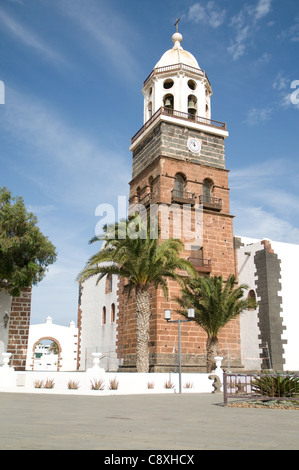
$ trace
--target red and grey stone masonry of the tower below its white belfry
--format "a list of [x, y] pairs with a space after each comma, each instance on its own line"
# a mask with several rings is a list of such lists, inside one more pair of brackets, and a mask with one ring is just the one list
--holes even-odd
[[[202, 141], [199, 156], [187, 149], [188, 137]], [[203, 132], [189, 131], [176, 125], [157, 126], [151, 135], [133, 151], [133, 179], [130, 182], [130, 204], [172, 204], [172, 190], [177, 173], [185, 178], [184, 190], [194, 194], [195, 204], [200, 203], [203, 181], [212, 182], [211, 196], [221, 199], [221, 209], [203, 209], [203, 258], [210, 260], [209, 273], [230, 274], [237, 277], [238, 269], [234, 249], [233, 216], [229, 208], [228, 170], [225, 169], [224, 139]], [[194, 225], [194, 212], [192, 224]], [[172, 236], [173, 216], [169, 213], [169, 236]], [[180, 237], [182, 239], [182, 237]], [[183, 242], [186, 240], [182, 239]], [[183, 257], [194, 255], [185, 251]], [[164, 320], [164, 309], [171, 309], [172, 319], [178, 318], [176, 297], [180, 287], [173, 281], [169, 285], [169, 299], [159, 289], [152, 291], [150, 320], [150, 370], [170, 371], [177, 365], [178, 325]], [[117, 328], [117, 352], [122, 359], [123, 370], [134, 370], [136, 361], [136, 329], [134, 295], [128, 299], [119, 283], [119, 315]], [[189, 371], [205, 371], [207, 335], [195, 322], [184, 323], [181, 329], [182, 367]], [[235, 358], [240, 358], [239, 319], [231, 321], [219, 334], [220, 348], [226, 356], [227, 348]], [[225, 361], [224, 361], [225, 362]], [[231, 361], [230, 366], [239, 368], [240, 361]]]

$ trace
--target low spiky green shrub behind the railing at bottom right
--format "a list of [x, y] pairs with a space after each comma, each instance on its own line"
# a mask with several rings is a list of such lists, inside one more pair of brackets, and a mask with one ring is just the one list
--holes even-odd
[[266, 373], [251, 382], [252, 390], [265, 397], [299, 396], [299, 377]]

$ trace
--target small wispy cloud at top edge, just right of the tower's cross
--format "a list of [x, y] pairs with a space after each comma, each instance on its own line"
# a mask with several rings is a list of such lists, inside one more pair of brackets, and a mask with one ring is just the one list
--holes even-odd
[[197, 2], [189, 8], [188, 20], [195, 23], [207, 23], [212, 28], [218, 28], [225, 20], [226, 10], [219, 8], [214, 1], [209, 1], [206, 5]]

